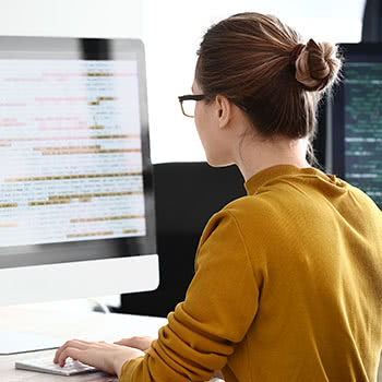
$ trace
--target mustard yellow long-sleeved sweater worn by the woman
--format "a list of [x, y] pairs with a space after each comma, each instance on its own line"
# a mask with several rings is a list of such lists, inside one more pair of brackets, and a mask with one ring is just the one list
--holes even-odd
[[[204, 229], [186, 300], [122, 382], [375, 381], [382, 213], [334, 176], [267, 168]], [[179, 249], [181, 255], [181, 249]]]

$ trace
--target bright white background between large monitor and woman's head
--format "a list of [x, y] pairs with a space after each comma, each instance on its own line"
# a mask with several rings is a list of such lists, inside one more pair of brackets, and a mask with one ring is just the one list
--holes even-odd
[[193, 121], [180, 112], [178, 95], [189, 94], [195, 51], [207, 27], [231, 14], [271, 13], [309, 39], [358, 43], [365, 0], [145, 0], [152, 159], [204, 160]]

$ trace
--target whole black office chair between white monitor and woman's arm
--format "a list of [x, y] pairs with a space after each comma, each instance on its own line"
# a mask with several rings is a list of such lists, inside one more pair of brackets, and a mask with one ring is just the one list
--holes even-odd
[[210, 217], [246, 194], [236, 166], [206, 163], [154, 165], [159, 287], [121, 296], [121, 313], [167, 317], [184, 299], [194, 274], [194, 256]]

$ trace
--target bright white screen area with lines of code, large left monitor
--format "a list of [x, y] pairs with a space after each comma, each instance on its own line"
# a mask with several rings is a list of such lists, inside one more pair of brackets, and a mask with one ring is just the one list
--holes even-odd
[[0, 247], [144, 236], [134, 60], [0, 60]]

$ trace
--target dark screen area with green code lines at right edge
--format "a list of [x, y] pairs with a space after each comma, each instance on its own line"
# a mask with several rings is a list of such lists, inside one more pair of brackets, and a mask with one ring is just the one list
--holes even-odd
[[347, 63], [345, 178], [382, 207], [382, 63]]

